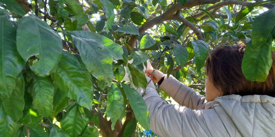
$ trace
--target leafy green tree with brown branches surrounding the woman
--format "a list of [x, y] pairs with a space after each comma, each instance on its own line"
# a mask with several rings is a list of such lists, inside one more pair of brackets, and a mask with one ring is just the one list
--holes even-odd
[[205, 59], [217, 46], [247, 44], [242, 71], [250, 81], [265, 81], [272, 64], [274, 0], [0, 0], [0, 7], [5, 137], [142, 135], [150, 120], [135, 87], [148, 84], [148, 59], [202, 95]]

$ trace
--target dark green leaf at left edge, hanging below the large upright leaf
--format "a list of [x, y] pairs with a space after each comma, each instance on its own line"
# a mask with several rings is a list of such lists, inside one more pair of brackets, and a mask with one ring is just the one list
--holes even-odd
[[7, 115], [9, 115], [13, 121], [17, 122], [23, 116], [24, 109], [24, 77], [20, 73], [16, 78], [16, 86], [11, 94], [11, 97], [1, 96], [3, 102], [4, 110]]

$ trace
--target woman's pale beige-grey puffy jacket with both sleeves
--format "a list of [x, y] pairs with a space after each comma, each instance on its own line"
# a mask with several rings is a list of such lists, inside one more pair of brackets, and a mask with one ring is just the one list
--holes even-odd
[[160, 137], [275, 137], [274, 97], [227, 95], [206, 103], [205, 97], [173, 76], [160, 89], [180, 104], [167, 104], [154, 84], [148, 85], [143, 98], [150, 128]]

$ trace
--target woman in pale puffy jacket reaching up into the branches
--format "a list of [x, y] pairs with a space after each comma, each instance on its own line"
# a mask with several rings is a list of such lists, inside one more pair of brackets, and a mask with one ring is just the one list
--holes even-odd
[[[260, 83], [242, 74], [244, 50], [240, 45], [227, 45], [212, 51], [206, 61], [206, 97], [172, 75], [167, 78], [155, 71], [153, 82], [179, 105], [161, 100], [149, 83], [143, 98], [151, 130], [160, 137], [275, 137], [275, 53], [269, 75]], [[152, 72], [147, 70], [147, 75]]]

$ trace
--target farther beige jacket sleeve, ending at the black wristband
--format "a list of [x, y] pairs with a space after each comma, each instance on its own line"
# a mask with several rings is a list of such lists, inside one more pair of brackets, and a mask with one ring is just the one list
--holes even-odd
[[202, 105], [206, 102], [205, 97], [200, 93], [187, 87], [172, 75], [163, 80], [160, 85], [160, 89], [166, 92], [172, 97], [179, 105], [186, 106], [190, 109], [197, 110], [197, 106]]

